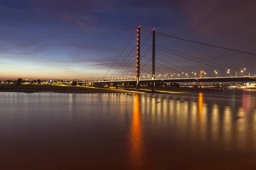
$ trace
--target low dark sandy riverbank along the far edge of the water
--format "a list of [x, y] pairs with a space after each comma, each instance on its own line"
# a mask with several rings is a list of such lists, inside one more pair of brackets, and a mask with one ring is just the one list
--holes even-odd
[[[210, 88], [164, 88], [156, 87], [155, 93], [211, 93], [222, 92], [223, 89]], [[118, 89], [111, 88], [94, 88], [85, 86], [66, 86], [66, 85], [5, 85], [0, 84], [0, 92], [23, 92], [23, 93], [38, 93], [38, 92], [55, 92], [55, 93], [77, 93], [77, 94], [102, 94], [102, 93], [152, 93], [151, 87], [140, 87], [140, 91], [136, 91], [134, 86], [125, 90], [122, 86]]]

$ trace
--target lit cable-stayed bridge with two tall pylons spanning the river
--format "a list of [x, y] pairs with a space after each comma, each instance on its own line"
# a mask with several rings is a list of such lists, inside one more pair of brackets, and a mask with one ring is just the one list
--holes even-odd
[[[150, 36], [145, 40], [145, 42], [141, 42], [141, 31], [150, 33]], [[222, 65], [216, 62], [211, 62], [206, 59], [194, 57], [189, 54], [185, 54], [179, 51], [172, 50], [170, 48], [163, 47], [161, 45], [157, 45], [155, 44], [156, 34], [159, 36], [169, 37], [169, 38], [177, 39], [181, 41], [186, 41], [186, 42], [196, 43], [204, 46], [220, 48], [227, 51], [234, 51], [237, 53], [256, 56], [256, 54], [254, 53], [239, 51], [231, 48], [225, 48], [225, 47], [211, 45], [203, 42], [197, 42], [193, 40], [187, 40], [180, 37], [174, 37], [168, 34], [158, 33], [154, 29], [152, 31], [146, 31], [138, 27], [136, 34], [134, 34], [134, 37], [130, 40], [128, 45], [126, 45], [126, 47], [124, 48], [122, 53], [119, 55], [119, 57], [117, 57], [115, 62], [113, 62], [113, 65], [111, 66], [111, 68], [109, 68], [109, 70], [102, 77], [102, 79], [93, 79], [93, 80], [88, 80], [88, 81], [79, 82], [79, 83], [93, 83], [95, 85], [102, 84], [102, 83], [109, 85], [109, 83], [113, 83], [116, 87], [118, 86], [119, 83], [123, 83], [124, 86], [126, 87], [129, 85], [129, 83], [136, 82], [137, 91], [140, 90], [140, 83], [149, 83], [152, 86], [152, 91], [154, 91], [155, 83], [157, 82], [254, 82], [254, 81], [256, 82], [256, 74], [247, 72], [245, 68], [237, 70], [236, 68], [231, 68], [226, 65]], [[151, 37], [152, 37], [152, 44], [149, 45], [147, 42]], [[114, 69], [113, 71], [113, 66], [117, 63], [118, 59], [120, 59], [121, 55], [124, 53], [124, 51], [128, 48], [128, 46], [131, 44], [131, 42], [134, 39], [137, 39], [137, 44], [134, 46], [134, 48], [131, 50], [128, 56], [122, 61], [122, 63], [118, 66], [118, 68]], [[145, 51], [144, 54], [141, 54], [142, 46], [148, 47], [148, 49]], [[147, 54], [148, 51], [150, 50], [152, 50], [152, 57], [151, 58], [145, 57], [145, 54]], [[155, 55], [156, 50], [165, 52], [166, 54], [172, 54], [177, 57], [186, 59], [188, 62], [197, 62], [201, 65], [207, 65], [207, 67], [208, 66], [212, 67], [215, 69], [214, 74], [216, 75], [218, 74], [218, 71], [225, 71], [227, 74], [233, 74], [234, 76], [206, 77], [205, 71], [201, 70], [200, 73], [197, 74], [194, 71], [190, 71], [187, 68], [181, 67], [179, 65], [175, 65], [160, 57], [156, 57]], [[141, 59], [146, 59], [146, 62], [144, 63], [144, 65], [141, 65]], [[151, 64], [151, 71], [145, 71], [145, 65], [147, 65], [148, 63]], [[156, 64], [157, 64], [157, 67], [156, 67]], [[172, 71], [173, 73], [164, 74], [163, 71], [159, 71], [159, 68], [161, 70], [165, 69], [168, 71]], [[164, 71], [164, 72], [168, 72], [168, 71]]]

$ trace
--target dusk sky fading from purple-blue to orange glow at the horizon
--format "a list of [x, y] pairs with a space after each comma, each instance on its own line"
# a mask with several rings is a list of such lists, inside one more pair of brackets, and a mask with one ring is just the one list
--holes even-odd
[[[141, 31], [141, 42], [149, 37], [147, 45], [152, 44], [152, 37], [146, 31], [154, 28], [157, 33], [255, 54], [255, 8], [255, 0], [1, 0], [0, 79], [102, 78], [138, 26], [145, 30]], [[132, 51], [136, 42], [135, 37], [105, 77], [120, 77], [123, 72], [124, 76], [130, 70], [128, 65], [136, 57], [136, 51]], [[147, 45], [141, 47], [142, 55], [148, 50]], [[180, 67], [156, 59], [171, 68], [156, 64], [157, 75], [187, 70], [199, 73], [202, 69], [209, 77], [216, 76], [214, 70], [218, 76], [229, 76], [225, 71], [228, 68], [246, 68], [256, 74], [253, 55], [159, 34], [156, 45], [227, 66], [221, 70], [156, 49], [157, 58]], [[151, 51], [144, 57], [150, 59]], [[142, 58], [141, 64], [147, 61]], [[127, 75], [134, 73], [135, 64], [131, 64]], [[141, 71], [142, 75], [149, 73], [151, 62]]]

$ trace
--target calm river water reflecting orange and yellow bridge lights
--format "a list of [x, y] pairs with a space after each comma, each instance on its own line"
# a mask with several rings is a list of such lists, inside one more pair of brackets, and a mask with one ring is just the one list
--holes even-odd
[[256, 91], [0, 93], [1, 170], [256, 169]]

